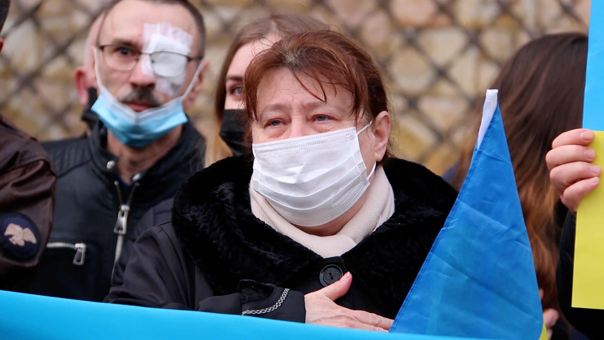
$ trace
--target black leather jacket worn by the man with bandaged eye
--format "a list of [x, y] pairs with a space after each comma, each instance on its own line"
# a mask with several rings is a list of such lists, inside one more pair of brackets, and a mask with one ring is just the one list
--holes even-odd
[[133, 226], [202, 168], [203, 139], [187, 122], [178, 144], [124, 186], [103, 131], [98, 123], [91, 137], [50, 152], [57, 168], [55, 219], [30, 293], [101, 301]]

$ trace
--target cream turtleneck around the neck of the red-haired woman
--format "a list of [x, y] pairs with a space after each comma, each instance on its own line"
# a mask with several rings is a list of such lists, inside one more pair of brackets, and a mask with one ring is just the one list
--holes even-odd
[[335, 235], [310, 235], [285, 220], [249, 184], [252, 213], [283, 235], [302, 244], [323, 258], [340, 256], [361, 242], [394, 214], [394, 192], [381, 166], [376, 168], [373, 183], [367, 188], [361, 209]]

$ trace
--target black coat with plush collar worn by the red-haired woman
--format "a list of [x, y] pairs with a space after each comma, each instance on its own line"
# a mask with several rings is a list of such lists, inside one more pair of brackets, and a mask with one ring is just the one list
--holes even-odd
[[321, 277], [329, 283], [350, 271], [352, 287], [336, 302], [394, 318], [455, 189], [421, 165], [390, 160], [384, 169], [393, 216], [352, 250], [324, 259], [252, 214], [252, 166], [244, 157], [217, 162], [183, 183], [172, 222], [138, 238], [124, 285], [105, 301], [304, 322], [304, 294], [323, 288]]

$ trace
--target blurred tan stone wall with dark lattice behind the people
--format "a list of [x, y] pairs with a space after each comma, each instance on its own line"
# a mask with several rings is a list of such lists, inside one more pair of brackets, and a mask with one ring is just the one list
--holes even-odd
[[[442, 173], [505, 60], [544, 33], [586, 31], [589, 0], [198, 0], [210, 70], [190, 111], [202, 133], [221, 60], [237, 28], [270, 8], [304, 11], [355, 36], [384, 67], [400, 157]], [[73, 88], [86, 33], [106, 0], [12, 0], [1, 36], [0, 112], [40, 140], [77, 136]]]

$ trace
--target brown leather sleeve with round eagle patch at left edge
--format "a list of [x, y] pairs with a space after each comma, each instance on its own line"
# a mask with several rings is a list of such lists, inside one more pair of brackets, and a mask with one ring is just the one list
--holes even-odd
[[0, 116], [0, 289], [30, 285], [53, 225], [55, 183], [42, 146]]

